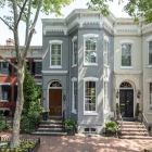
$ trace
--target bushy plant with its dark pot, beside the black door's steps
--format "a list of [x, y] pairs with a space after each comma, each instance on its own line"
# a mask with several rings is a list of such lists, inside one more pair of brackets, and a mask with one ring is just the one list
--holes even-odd
[[105, 123], [104, 129], [105, 129], [105, 135], [107, 137], [116, 137], [118, 131], [118, 126], [115, 122], [109, 121]]

